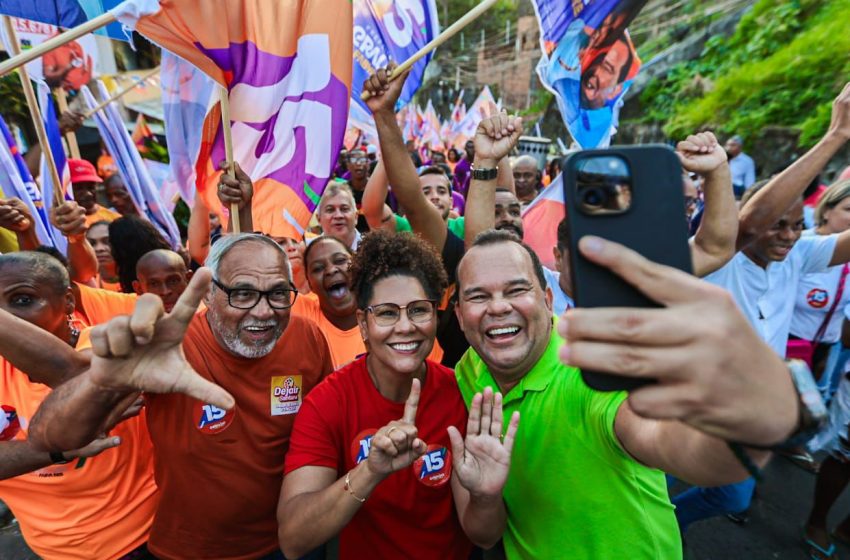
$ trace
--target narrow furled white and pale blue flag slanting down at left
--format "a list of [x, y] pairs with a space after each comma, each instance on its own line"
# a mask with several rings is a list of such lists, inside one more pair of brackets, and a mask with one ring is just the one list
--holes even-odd
[[[103, 82], [96, 82], [98, 96], [108, 99], [110, 94]], [[88, 86], [80, 90], [83, 100], [89, 109], [97, 106], [97, 100], [89, 91]], [[175, 249], [180, 246], [180, 232], [174, 216], [163, 204], [159, 195], [159, 186], [151, 178], [150, 171], [142, 159], [136, 143], [127, 132], [124, 120], [114, 103], [108, 104], [94, 114], [100, 137], [106, 144], [106, 150], [118, 166], [118, 174], [124, 182], [127, 193], [133, 200], [139, 214], [147, 218]]]

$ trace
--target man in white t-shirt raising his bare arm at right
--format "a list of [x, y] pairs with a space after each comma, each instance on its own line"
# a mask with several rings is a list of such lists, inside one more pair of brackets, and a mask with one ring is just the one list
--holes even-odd
[[[768, 183], [744, 195], [739, 252], [705, 277], [732, 294], [756, 332], [783, 358], [801, 277], [850, 261], [850, 231], [800, 239], [803, 191], [848, 140], [850, 84], [836, 98], [832, 122], [821, 141]], [[682, 532], [694, 521], [745, 511], [754, 488], [755, 482], [748, 479], [716, 488], [694, 487], [675, 496], [672, 502]]]

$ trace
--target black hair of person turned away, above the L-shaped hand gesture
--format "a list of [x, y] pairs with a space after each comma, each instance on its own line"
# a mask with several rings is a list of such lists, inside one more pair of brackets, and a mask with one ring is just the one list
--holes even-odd
[[171, 250], [171, 245], [152, 223], [135, 215], [118, 218], [109, 224], [109, 245], [121, 291], [127, 294], [134, 293], [136, 263], [142, 255], [154, 249]]

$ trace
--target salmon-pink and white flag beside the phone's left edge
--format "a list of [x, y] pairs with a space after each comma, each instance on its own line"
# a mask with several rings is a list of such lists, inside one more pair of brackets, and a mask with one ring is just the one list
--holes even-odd
[[555, 177], [522, 212], [522, 240], [534, 249], [543, 266], [551, 269], [555, 268], [552, 247], [558, 243], [558, 224], [566, 215], [562, 177]]

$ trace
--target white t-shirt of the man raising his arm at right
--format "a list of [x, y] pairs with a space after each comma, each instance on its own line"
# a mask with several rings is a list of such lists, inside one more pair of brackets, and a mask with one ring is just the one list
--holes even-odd
[[800, 279], [829, 268], [837, 238], [837, 234], [801, 237], [784, 261], [766, 268], [739, 252], [705, 280], [728, 290], [761, 339], [784, 357]]

